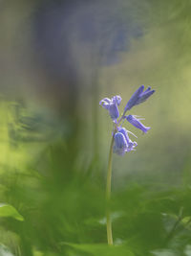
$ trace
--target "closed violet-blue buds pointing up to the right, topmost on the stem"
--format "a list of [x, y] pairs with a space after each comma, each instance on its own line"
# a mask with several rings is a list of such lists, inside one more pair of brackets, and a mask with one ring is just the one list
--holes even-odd
[[144, 85], [141, 85], [138, 88], [138, 90], [132, 95], [127, 105], [125, 105], [124, 114], [127, 110], [130, 110], [134, 105], [138, 105], [145, 102], [154, 92], [155, 90], [151, 90], [151, 87], [148, 87], [144, 91]]

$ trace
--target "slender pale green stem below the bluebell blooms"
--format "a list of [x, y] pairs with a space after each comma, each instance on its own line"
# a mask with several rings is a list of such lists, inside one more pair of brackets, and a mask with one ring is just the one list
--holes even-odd
[[108, 244], [113, 244], [112, 236], [112, 220], [109, 209], [109, 201], [111, 198], [111, 184], [112, 184], [112, 156], [113, 156], [113, 145], [114, 145], [114, 136], [112, 136], [112, 142], [110, 146], [109, 160], [108, 160], [108, 171], [107, 171], [107, 183], [106, 183], [106, 221], [107, 221], [107, 240]]

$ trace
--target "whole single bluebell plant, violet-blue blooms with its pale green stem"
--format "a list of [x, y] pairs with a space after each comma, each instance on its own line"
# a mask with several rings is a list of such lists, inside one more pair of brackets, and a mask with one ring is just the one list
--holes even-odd
[[[122, 125], [125, 120], [127, 120], [131, 125], [136, 128], [139, 128], [144, 133], [146, 133], [150, 128], [145, 127], [140, 120], [142, 118], [138, 118], [136, 115], [128, 115], [126, 116], [126, 112], [129, 111], [133, 106], [139, 105], [145, 102], [155, 90], [151, 90], [149, 86], [144, 91], [144, 85], [141, 85], [138, 90], [132, 95], [131, 99], [125, 106], [121, 117], [119, 118], [119, 111], [118, 105], [120, 105], [121, 97], [116, 95], [109, 98], [104, 98], [99, 102], [103, 108], [108, 110], [110, 117], [114, 123], [114, 130], [112, 133], [112, 142], [110, 146], [109, 152], [109, 159], [108, 159], [108, 170], [107, 170], [107, 182], [106, 182], [106, 225], [107, 225], [107, 241], [108, 244], [113, 244], [113, 236], [112, 236], [112, 220], [110, 214], [110, 198], [111, 198], [111, 184], [112, 184], [112, 158], [113, 152], [117, 153], [118, 155], [124, 155], [126, 152], [129, 151], [136, 151], [135, 148], [138, 146], [136, 141], [132, 141], [129, 138], [128, 133], [134, 135], [131, 131], [123, 128]], [[118, 120], [117, 120], [118, 119]], [[121, 124], [120, 124], [121, 123]], [[134, 135], [137, 137], [136, 135]]]

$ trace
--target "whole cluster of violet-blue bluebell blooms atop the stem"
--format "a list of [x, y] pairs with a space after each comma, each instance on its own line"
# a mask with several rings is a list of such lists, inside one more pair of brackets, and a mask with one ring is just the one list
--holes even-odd
[[[123, 114], [121, 118], [119, 117], [118, 105], [120, 105], [121, 97], [114, 96], [112, 99], [104, 98], [100, 101], [99, 105], [102, 105], [105, 109], [109, 111], [109, 114], [115, 123], [115, 128], [113, 132], [114, 136], [114, 152], [119, 155], [124, 155], [127, 151], [135, 151], [135, 148], [138, 146], [137, 142], [133, 142], [130, 138], [128, 133], [133, 134], [131, 131], [127, 130], [126, 128], [122, 128], [120, 123], [121, 121], [127, 120], [130, 124], [134, 127], [141, 129], [144, 133], [146, 133], [150, 128], [145, 127], [140, 120], [142, 118], [138, 118], [136, 115], [125, 115], [128, 110], [130, 110], [134, 105], [139, 105], [145, 102], [155, 90], [151, 90], [151, 87], [148, 87], [144, 91], [144, 85], [141, 85], [138, 90], [132, 95], [131, 99], [125, 105]], [[134, 135], [134, 134], [133, 134]], [[134, 135], [136, 137], [136, 135]]]

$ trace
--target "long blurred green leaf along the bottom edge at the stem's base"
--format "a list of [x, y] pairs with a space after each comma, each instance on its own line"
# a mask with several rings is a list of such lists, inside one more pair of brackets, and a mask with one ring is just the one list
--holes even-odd
[[135, 254], [129, 250], [127, 245], [108, 245], [108, 244], [72, 244], [62, 243], [70, 245], [75, 249], [82, 250], [88, 253], [92, 253], [97, 256], [135, 256]]

